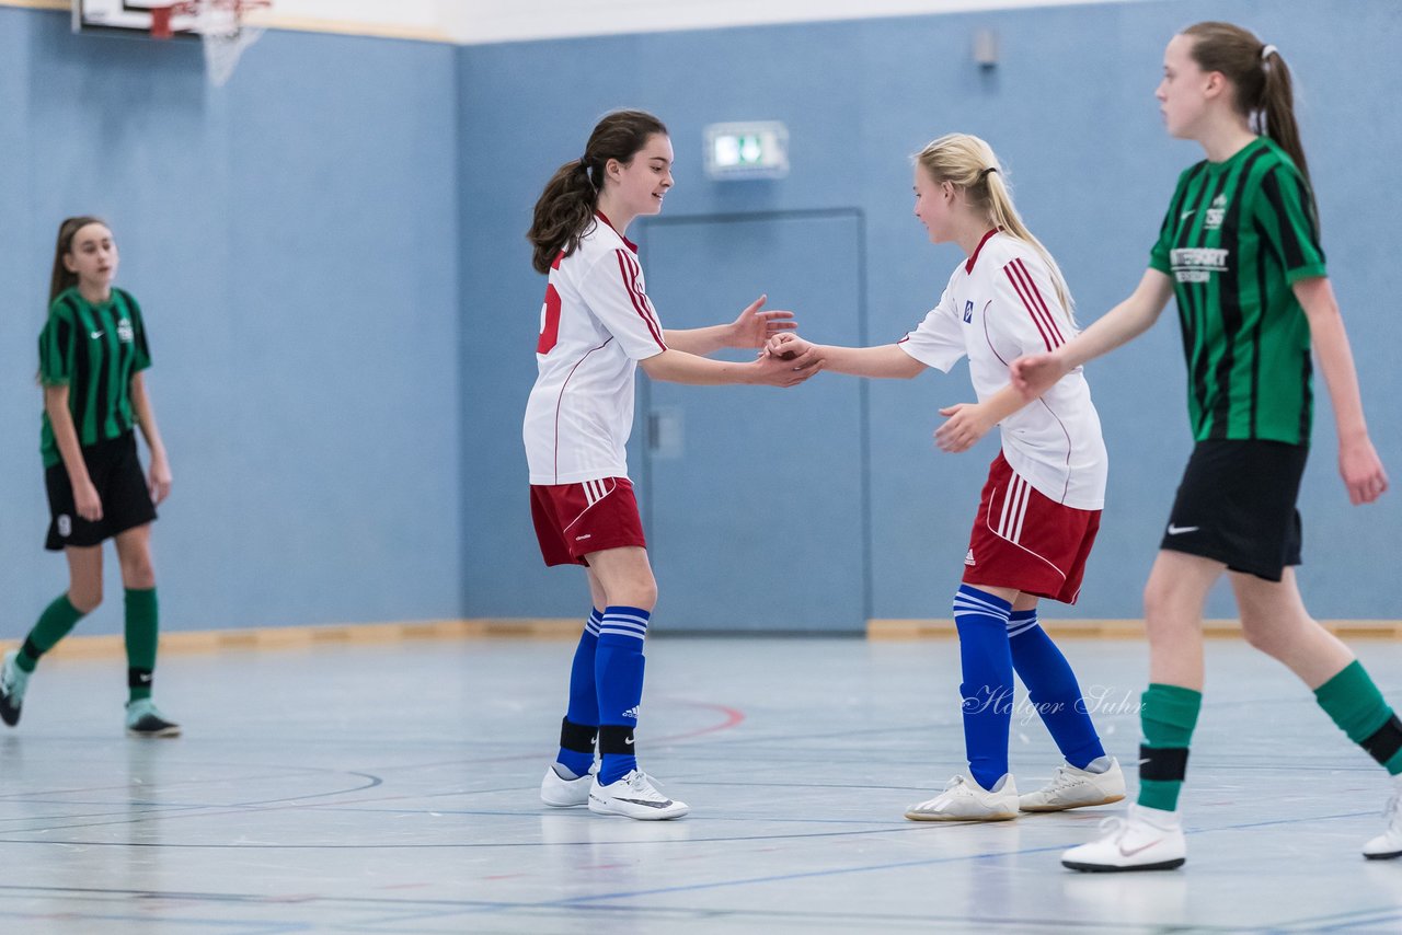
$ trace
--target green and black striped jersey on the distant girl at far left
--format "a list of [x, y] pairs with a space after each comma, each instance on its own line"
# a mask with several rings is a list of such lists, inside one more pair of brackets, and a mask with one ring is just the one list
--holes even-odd
[[[69, 388], [69, 412], [79, 443], [97, 444], [132, 428], [132, 374], [151, 366], [146, 327], [136, 300], [121, 289], [101, 306], [77, 289], [59, 293], [39, 332], [39, 383]], [[49, 416], [41, 437], [43, 465], [59, 464]]]

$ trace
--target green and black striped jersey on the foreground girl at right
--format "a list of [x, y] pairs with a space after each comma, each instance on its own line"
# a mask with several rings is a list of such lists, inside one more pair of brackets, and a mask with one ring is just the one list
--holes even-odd
[[1150, 266], [1173, 278], [1193, 437], [1309, 443], [1309, 325], [1291, 286], [1323, 276], [1309, 185], [1258, 137], [1178, 179]]

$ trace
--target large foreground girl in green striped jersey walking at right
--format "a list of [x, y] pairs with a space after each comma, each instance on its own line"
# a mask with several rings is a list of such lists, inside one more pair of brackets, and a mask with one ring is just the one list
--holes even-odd
[[[1178, 795], [1202, 707], [1203, 604], [1228, 573], [1246, 641], [1308, 685], [1350, 740], [1402, 774], [1402, 722], [1363, 666], [1300, 599], [1295, 499], [1314, 414], [1312, 360], [1329, 388], [1339, 471], [1353, 503], [1388, 488], [1353, 355], [1325, 275], [1309, 174], [1280, 52], [1241, 27], [1199, 22], [1168, 43], [1155, 93], [1171, 136], [1207, 158], [1187, 168], [1134, 293], [1052, 353], [1012, 363], [1022, 393], [1136, 338], [1176, 300], [1196, 439], [1144, 589], [1138, 803], [1067, 851], [1078, 871], [1143, 871], [1186, 859]], [[1311, 353], [1312, 352], [1312, 353]], [[1402, 779], [1368, 858], [1402, 855]]]

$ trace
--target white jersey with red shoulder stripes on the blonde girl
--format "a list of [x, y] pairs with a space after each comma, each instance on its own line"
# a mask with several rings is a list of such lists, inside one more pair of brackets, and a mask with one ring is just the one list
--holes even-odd
[[[981, 402], [1008, 385], [1012, 360], [1053, 350], [1073, 336], [1040, 254], [1016, 237], [991, 231], [959, 264], [939, 304], [900, 348], [945, 373], [967, 356]], [[1001, 428], [1004, 457], [1036, 491], [1078, 510], [1103, 509], [1109, 461], [1101, 416], [1080, 367]]]

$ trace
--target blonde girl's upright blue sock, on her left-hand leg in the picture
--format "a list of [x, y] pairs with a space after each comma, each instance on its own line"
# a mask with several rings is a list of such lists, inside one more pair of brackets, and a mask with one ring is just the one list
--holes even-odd
[[969, 772], [991, 789], [1008, 771], [1008, 726], [1012, 722], [1012, 656], [1008, 614], [1012, 604], [960, 585], [955, 594], [955, 627], [963, 664], [965, 749]]

